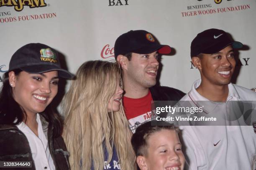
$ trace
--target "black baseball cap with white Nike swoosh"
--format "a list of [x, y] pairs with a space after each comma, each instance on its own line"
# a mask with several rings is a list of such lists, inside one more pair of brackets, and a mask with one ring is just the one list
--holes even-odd
[[233, 48], [241, 48], [243, 44], [233, 41], [224, 30], [208, 29], [197, 34], [190, 46], [190, 56], [197, 56], [200, 53], [214, 54], [223, 48], [231, 45]]

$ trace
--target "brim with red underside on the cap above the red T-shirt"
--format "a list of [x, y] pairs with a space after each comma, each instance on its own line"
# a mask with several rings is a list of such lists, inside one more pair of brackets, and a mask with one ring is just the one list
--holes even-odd
[[169, 54], [172, 51], [172, 48], [168, 45], [159, 44], [159, 45], [144, 46], [143, 48], [139, 48], [131, 52], [138, 53], [138, 54], [149, 54], [149, 53], [153, 53], [154, 51], [158, 51], [159, 54]]

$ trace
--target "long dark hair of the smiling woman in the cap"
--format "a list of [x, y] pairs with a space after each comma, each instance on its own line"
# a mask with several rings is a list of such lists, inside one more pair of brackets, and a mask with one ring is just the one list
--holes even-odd
[[[22, 70], [13, 70], [18, 76]], [[17, 125], [20, 122], [26, 122], [26, 112], [13, 98], [13, 89], [9, 84], [9, 72], [3, 76], [3, 86], [0, 91], [0, 124]], [[53, 111], [49, 104], [44, 112], [40, 113], [49, 125], [54, 126], [54, 137], [58, 137], [62, 132], [62, 119], [56, 112]]]

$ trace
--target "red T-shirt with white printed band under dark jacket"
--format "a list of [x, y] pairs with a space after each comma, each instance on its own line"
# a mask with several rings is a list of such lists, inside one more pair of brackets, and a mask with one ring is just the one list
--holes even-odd
[[150, 121], [156, 117], [155, 111], [151, 112], [151, 102], [153, 98], [151, 92], [144, 97], [133, 99], [129, 97], [123, 97], [123, 106], [125, 109], [125, 115], [130, 122], [130, 129], [135, 133], [136, 128], [144, 123]]

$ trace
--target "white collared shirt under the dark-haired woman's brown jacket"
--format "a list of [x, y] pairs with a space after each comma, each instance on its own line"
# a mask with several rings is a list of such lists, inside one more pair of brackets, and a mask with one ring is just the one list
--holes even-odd
[[28, 139], [36, 170], [55, 170], [39, 114], [36, 115], [36, 121], [38, 123], [38, 137], [24, 122], [18, 124], [17, 127]]

